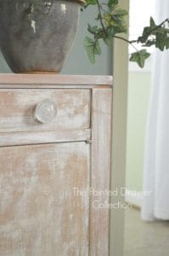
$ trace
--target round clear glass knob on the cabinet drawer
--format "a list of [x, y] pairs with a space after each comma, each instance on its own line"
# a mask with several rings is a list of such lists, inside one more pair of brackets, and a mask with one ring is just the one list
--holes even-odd
[[56, 116], [56, 104], [51, 99], [44, 99], [37, 104], [34, 113], [34, 119], [42, 124], [52, 122]]

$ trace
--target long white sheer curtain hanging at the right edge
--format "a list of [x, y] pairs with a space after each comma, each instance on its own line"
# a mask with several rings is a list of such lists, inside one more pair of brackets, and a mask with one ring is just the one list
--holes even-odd
[[[169, 17], [169, 0], [156, 0], [158, 23]], [[169, 50], [155, 53], [147, 126], [142, 218], [169, 219]]]

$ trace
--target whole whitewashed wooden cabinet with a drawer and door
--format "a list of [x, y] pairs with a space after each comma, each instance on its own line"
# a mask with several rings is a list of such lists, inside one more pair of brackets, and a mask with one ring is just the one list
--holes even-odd
[[111, 84], [0, 75], [0, 255], [109, 254]]

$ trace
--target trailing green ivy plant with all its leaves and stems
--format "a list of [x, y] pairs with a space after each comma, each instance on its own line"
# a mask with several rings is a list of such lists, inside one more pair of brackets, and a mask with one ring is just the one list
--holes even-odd
[[[147, 48], [155, 46], [161, 51], [169, 49], [169, 19], [163, 20], [161, 24], [156, 24], [155, 20], [150, 17], [149, 26], [143, 28], [142, 35], [129, 41], [121, 35], [127, 33], [127, 10], [120, 8], [119, 0], [107, 1], [100, 3], [99, 0], [86, 0], [86, 5], [83, 8], [95, 6], [98, 9], [98, 14], [95, 17], [97, 25], [87, 25], [90, 36], [84, 39], [84, 47], [91, 63], [95, 63], [96, 55], [101, 55], [100, 40], [103, 40], [104, 44], [110, 45], [112, 38], [118, 38], [131, 44], [134, 51], [130, 61], [137, 62], [138, 66], [142, 68], [150, 56]], [[137, 44], [141, 45], [142, 49], [138, 50]]]

